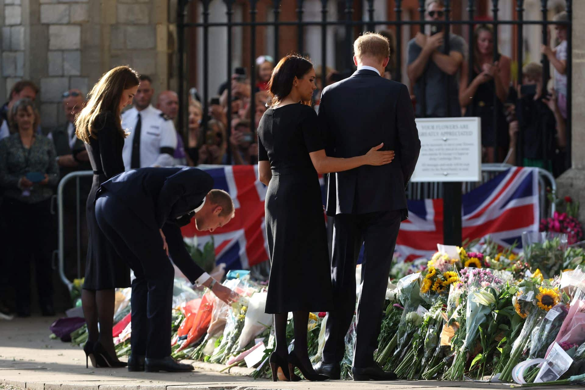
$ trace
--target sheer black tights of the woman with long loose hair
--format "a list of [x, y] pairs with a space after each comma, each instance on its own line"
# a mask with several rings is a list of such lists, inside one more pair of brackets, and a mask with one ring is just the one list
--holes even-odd
[[113, 288], [81, 291], [81, 305], [87, 323], [87, 342], [95, 344], [99, 341], [112, 358], [116, 356], [112, 337], [115, 297], [116, 290]]

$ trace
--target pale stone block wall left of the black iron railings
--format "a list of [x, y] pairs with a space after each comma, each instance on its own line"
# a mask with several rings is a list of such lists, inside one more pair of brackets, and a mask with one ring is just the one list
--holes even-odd
[[[171, 0], [174, 2], [176, 0]], [[64, 120], [61, 94], [87, 93], [112, 67], [130, 65], [168, 85], [168, 0], [0, 0], [0, 100], [25, 78], [40, 87], [42, 126]]]

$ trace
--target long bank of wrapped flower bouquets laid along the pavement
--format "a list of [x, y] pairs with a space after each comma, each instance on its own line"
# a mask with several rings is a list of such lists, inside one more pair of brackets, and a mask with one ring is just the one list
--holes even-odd
[[[523, 251], [489, 237], [442, 249], [431, 259], [399, 260], [391, 270], [374, 359], [400, 379], [516, 382], [522, 386], [585, 383], [585, 258], [578, 205], [543, 220]], [[560, 208], [559, 208], [560, 209]], [[571, 219], [573, 218], [573, 219]], [[576, 220], [575, 220], [576, 221]], [[224, 285], [242, 296], [226, 305], [176, 279], [173, 357], [254, 368], [269, 377], [273, 319], [264, 313], [266, 285], [231, 271]], [[360, 272], [356, 272], [356, 276]], [[130, 353], [130, 291], [116, 292], [113, 337]], [[359, 297], [358, 297], [359, 300]], [[311, 313], [309, 356], [319, 361], [326, 313]], [[292, 316], [287, 328], [294, 343]], [[71, 334], [87, 340], [85, 327]], [[355, 319], [346, 335], [342, 377], [351, 378]]]

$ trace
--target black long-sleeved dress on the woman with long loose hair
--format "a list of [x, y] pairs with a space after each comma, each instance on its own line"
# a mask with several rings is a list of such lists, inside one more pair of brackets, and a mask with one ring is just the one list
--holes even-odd
[[90, 143], [85, 144], [91, 168], [94, 170], [94, 181], [85, 206], [89, 242], [83, 288], [102, 290], [130, 287], [128, 263], [116, 253], [112, 244], [99, 229], [95, 220], [94, 202], [99, 185], [124, 171], [122, 160], [124, 138], [116, 127], [112, 112], [99, 114], [94, 122], [94, 129], [97, 139], [91, 138]]

